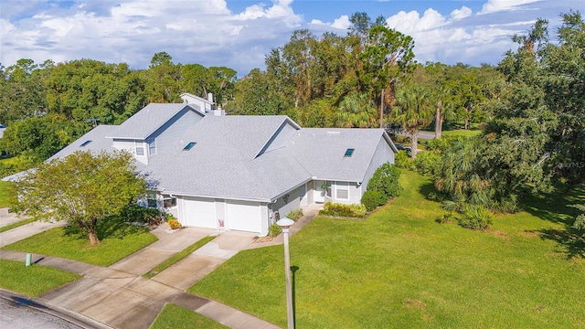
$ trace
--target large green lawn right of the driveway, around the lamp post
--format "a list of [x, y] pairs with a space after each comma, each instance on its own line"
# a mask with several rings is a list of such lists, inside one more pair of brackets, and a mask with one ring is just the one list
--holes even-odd
[[[315, 218], [291, 239], [297, 327], [585, 326], [585, 261], [546, 234], [566, 228], [569, 200], [478, 232], [435, 222], [429, 179], [400, 181], [402, 195], [366, 220]], [[282, 246], [243, 250], [188, 292], [284, 327], [283, 267]]]

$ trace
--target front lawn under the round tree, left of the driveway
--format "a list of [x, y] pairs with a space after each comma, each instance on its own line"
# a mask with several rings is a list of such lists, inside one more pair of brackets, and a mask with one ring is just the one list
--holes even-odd
[[49, 229], [2, 249], [110, 266], [157, 240], [147, 227], [123, 224], [114, 218], [99, 223], [98, 236], [101, 243], [97, 246], [90, 245], [90, 240], [80, 228], [66, 226]]

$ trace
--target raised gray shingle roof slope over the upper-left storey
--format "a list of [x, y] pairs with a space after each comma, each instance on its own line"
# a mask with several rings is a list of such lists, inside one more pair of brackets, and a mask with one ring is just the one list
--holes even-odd
[[[196, 111], [185, 103], [148, 104], [144, 109], [136, 112], [125, 122], [122, 122], [117, 130], [106, 137], [145, 139], [187, 106], [193, 111]], [[198, 113], [198, 111], [196, 112]]]

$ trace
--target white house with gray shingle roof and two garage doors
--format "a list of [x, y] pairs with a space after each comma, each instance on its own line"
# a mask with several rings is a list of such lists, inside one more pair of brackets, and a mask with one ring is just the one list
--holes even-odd
[[[314, 203], [359, 203], [396, 146], [383, 129], [302, 128], [284, 115], [217, 115], [204, 102], [149, 104], [99, 125], [51, 157], [129, 150], [152, 185], [150, 206], [183, 226], [268, 234], [279, 216]], [[196, 106], [197, 105], [197, 106]]]

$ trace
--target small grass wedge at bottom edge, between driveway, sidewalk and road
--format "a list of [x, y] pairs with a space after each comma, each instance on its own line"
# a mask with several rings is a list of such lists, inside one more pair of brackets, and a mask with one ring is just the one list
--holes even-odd
[[167, 303], [150, 329], [229, 328], [185, 307]]

